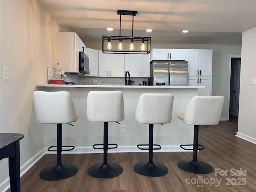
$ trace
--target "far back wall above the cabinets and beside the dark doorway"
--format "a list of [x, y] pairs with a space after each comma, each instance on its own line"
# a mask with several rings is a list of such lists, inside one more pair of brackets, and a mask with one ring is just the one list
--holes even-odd
[[[101, 42], [84, 42], [88, 48], [100, 50]], [[224, 96], [224, 104], [220, 118], [228, 119], [228, 74], [229, 56], [241, 55], [241, 45], [215, 45], [215, 44], [151, 44], [151, 48], [173, 49], [212, 49], [212, 95]]]

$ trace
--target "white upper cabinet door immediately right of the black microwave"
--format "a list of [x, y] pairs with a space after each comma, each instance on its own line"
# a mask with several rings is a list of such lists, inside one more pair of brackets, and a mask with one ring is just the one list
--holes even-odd
[[89, 57], [89, 76], [98, 77], [99, 76], [99, 60], [98, 60], [98, 50], [87, 48], [87, 56]]

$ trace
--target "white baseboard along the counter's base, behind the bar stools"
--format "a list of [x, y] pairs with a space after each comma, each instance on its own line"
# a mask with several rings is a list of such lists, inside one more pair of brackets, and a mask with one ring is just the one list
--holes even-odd
[[[161, 150], [154, 150], [154, 152], [187, 152], [180, 148], [179, 145], [161, 146]], [[56, 154], [50, 152], [45, 148], [46, 154]], [[148, 152], [148, 150], [139, 150], [137, 146], [118, 146], [118, 148], [108, 150], [108, 153], [131, 153], [131, 152]], [[103, 153], [103, 150], [96, 150], [93, 147], [75, 147], [72, 151], [63, 151], [62, 154], [86, 154], [86, 153]]]

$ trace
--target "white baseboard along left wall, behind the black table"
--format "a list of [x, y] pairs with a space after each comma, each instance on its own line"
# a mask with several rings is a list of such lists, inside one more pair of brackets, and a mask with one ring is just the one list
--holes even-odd
[[[20, 177], [24, 175], [38, 160], [42, 158], [45, 154], [45, 149], [43, 148], [40, 150], [37, 154], [35, 154], [30, 160], [28, 160], [25, 164], [23, 164], [20, 167]], [[6, 178], [1, 184], [0, 184], [0, 190], [1, 192], [6, 192], [10, 188], [10, 177]]]

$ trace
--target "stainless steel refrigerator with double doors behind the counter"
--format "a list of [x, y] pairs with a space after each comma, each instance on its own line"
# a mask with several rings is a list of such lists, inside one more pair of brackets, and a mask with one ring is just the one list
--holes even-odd
[[149, 85], [188, 85], [188, 62], [152, 61], [148, 83]]

